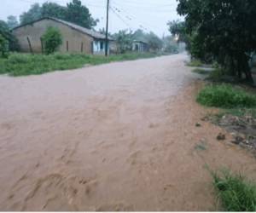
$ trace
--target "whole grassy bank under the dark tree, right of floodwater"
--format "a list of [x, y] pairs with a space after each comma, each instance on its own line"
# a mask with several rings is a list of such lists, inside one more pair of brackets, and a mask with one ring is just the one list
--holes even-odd
[[225, 81], [223, 70], [218, 65], [213, 64], [212, 70], [209, 66], [204, 67], [200, 60], [192, 60], [188, 66], [193, 66], [195, 69], [192, 72], [205, 75], [212, 83], [201, 89], [196, 100], [206, 107], [220, 108], [220, 114], [229, 113], [236, 116], [251, 115], [256, 118], [256, 95], [252, 89], [241, 87], [239, 84], [224, 83]]

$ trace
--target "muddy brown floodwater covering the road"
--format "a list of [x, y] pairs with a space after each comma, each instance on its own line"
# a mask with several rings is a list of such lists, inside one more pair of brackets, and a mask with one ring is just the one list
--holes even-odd
[[206, 164], [256, 178], [255, 158], [200, 120], [184, 60], [1, 76], [0, 209], [216, 210]]

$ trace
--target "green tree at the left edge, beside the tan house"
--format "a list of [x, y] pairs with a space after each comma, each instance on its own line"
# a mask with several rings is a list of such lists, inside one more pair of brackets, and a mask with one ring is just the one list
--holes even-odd
[[9, 26], [3, 20], [0, 20], [0, 35], [8, 41], [10, 51], [17, 51], [20, 49], [17, 38], [10, 32]]

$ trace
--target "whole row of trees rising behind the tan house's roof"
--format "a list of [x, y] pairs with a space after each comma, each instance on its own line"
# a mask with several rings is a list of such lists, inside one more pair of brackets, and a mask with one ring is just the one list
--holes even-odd
[[67, 3], [67, 7], [49, 2], [43, 3], [42, 6], [34, 3], [31, 9], [20, 15], [20, 24], [23, 25], [43, 17], [67, 20], [89, 29], [96, 26], [98, 22], [91, 17], [89, 9], [82, 5], [80, 0], [73, 0], [71, 3]]

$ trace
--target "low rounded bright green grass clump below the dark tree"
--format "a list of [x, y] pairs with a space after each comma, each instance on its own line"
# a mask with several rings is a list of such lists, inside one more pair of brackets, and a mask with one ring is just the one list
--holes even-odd
[[230, 84], [207, 85], [197, 96], [197, 101], [207, 107], [255, 107], [256, 96]]

